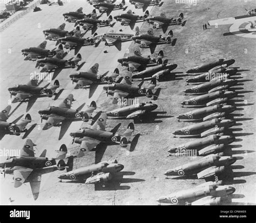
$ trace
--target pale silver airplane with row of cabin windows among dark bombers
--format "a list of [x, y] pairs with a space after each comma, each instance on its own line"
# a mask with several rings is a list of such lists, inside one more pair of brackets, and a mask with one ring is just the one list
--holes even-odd
[[102, 40], [105, 41], [105, 46], [114, 45], [119, 51], [122, 50], [122, 41], [130, 41], [133, 34], [130, 33], [114, 33], [113, 30], [110, 30], [106, 33], [98, 35], [95, 33], [94, 41]]

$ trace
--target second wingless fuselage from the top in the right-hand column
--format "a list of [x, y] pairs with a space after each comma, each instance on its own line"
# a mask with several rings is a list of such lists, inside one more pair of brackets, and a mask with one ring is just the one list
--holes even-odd
[[229, 67], [214, 67], [210, 69], [207, 73], [199, 74], [193, 76], [193, 78], [189, 78], [186, 80], [187, 83], [196, 83], [196, 82], [206, 82], [213, 80], [214, 77], [221, 78], [223, 74], [228, 74], [230, 76], [235, 75], [238, 72], [237, 68], [229, 68]]

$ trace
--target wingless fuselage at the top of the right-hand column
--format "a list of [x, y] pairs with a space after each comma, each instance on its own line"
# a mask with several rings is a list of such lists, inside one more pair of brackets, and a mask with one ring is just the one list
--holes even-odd
[[221, 66], [221, 65], [226, 65], [227, 67], [234, 64], [235, 60], [234, 59], [218, 59], [218, 60], [213, 60], [210, 62], [206, 62], [205, 64], [202, 65], [197, 65], [196, 67], [192, 69], [188, 69], [186, 73], [200, 73], [200, 72], [208, 72], [210, 69], [213, 69], [214, 67]]

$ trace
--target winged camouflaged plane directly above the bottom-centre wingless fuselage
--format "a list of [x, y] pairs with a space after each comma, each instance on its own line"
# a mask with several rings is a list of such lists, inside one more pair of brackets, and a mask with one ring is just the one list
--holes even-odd
[[127, 147], [127, 144], [130, 143], [130, 138], [134, 131], [134, 124], [132, 122], [129, 123], [123, 134], [117, 134], [113, 131], [105, 130], [106, 119], [106, 113], [102, 113], [90, 128], [82, 128], [75, 133], [70, 133], [70, 136], [73, 137], [72, 143], [80, 144], [78, 157], [86, 155], [86, 152], [91, 151], [101, 142], [118, 143], [121, 147]]

